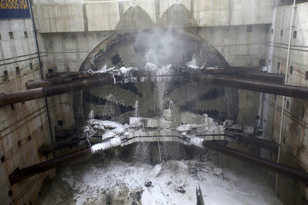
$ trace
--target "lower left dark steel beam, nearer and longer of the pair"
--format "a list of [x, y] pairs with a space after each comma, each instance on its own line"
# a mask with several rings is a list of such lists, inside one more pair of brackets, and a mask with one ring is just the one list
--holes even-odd
[[77, 150], [76, 152], [66, 154], [64, 156], [60, 156], [55, 159], [50, 159], [48, 161], [44, 161], [42, 163], [38, 163], [36, 165], [32, 165], [29, 167], [26, 167], [24, 169], [15, 169], [12, 174], [10, 174], [10, 184], [14, 184], [20, 180], [23, 180], [25, 178], [28, 178], [29, 176], [34, 176], [36, 174], [39, 174], [40, 172], [45, 172], [49, 169], [53, 169], [59, 165], [63, 165], [64, 163], [79, 159], [82, 156], [87, 156], [90, 154], [90, 150], [88, 148], [84, 148], [82, 150]]

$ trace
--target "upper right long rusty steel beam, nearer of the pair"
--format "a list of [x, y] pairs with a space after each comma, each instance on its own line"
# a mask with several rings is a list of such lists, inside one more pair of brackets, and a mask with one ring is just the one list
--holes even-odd
[[264, 81], [254, 81], [250, 79], [239, 79], [214, 74], [193, 73], [190, 76], [192, 81], [209, 82], [216, 85], [227, 87], [236, 87], [243, 90], [253, 90], [281, 96], [290, 96], [293, 98], [308, 99], [308, 88], [292, 85], [281, 85], [277, 83], [268, 83]]

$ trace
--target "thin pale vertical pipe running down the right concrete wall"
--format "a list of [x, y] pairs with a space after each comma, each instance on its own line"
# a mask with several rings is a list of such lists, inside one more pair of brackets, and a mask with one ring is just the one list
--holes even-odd
[[[285, 68], [285, 85], [287, 85], [287, 77], [289, 76], [289, 66], [290, 66], [290, 51], [291, 51], [291, 42], [292, 42], [292, 31], [293, 31], [293, 23], [294, 23], [294, 13], [295, 13], [295, 4], [296, 0], [293, 1], [293, 8], [292, 8], [292, 15], [291, 15], [291, 22], [290, 22], [290, 33], [289, 33], [289, 44], [287, 45], [287, 65]], [[283, 118], [285, 115], [285, 96], [283, 96], [283, 105], [281, 110], [281, 121], [280, 121], [280, 131], [279, 131], [279, 147], [278, 147], [278, 156], [277, 156], [277, 163], [280, 161], [280, 154], [281, 154], [281, 139], [283, 133]], [[278, 194], [278, 178], [279, 175], [276, 173], [275, 178], [275, 195]]]

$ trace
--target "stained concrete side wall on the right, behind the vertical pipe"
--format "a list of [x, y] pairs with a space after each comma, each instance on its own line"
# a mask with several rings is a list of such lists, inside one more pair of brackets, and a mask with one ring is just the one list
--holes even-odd
[[[267, 42], [267, 65], [269, 72], [285, 74], [287, 44], [290, 33], [292, 5], [274, 9], [271, 31]], [[308, 87], [308, 3], [296, 6], [288, 85]], [[279, 143], [283, 96], [264, 94], [263, 128], [264, 138]], [[301, 167], [308, 171], [308, 101], [286, 97], [283, 120], [281, 163]], [[272, 157], [273, 159], [273, 157]], [[274, 183], [274, 176], [269, 176]], [[305, 204], [308, 189], [290, 178], [279, 178], [279, 196], [285, 204]], [[306, 200], [305, 200], [306, 199]], [[294, 202], [296, 200], [296, 202]]]

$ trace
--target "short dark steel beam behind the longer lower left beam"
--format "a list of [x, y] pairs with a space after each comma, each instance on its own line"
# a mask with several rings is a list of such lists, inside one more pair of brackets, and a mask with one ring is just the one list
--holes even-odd
[[81, 140], [82, 139], [79, 139], [79, 137], [72, 137], [69, 139], [62, 139], [60, 141], [55, 141], [54, 143], [51, 143], [49, 145], [40, 146], [40, 148], [38, 148], [38, 153], [49, 154], [51, 152], [55, 152], [56, 150], [73, 146]]

